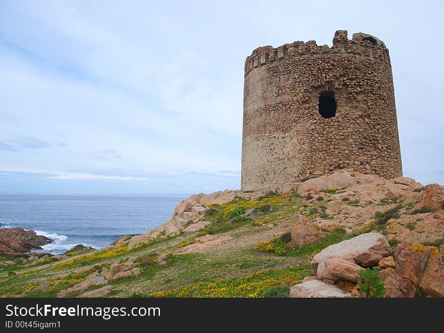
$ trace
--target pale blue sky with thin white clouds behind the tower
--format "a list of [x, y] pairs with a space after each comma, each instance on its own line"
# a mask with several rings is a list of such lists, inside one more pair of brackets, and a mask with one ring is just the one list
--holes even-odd
[[240, 188], [245, 58], [365, 32], [390, 50], [404, 176], [444, 184], [439, 1], [0, 0], [0, 194]]

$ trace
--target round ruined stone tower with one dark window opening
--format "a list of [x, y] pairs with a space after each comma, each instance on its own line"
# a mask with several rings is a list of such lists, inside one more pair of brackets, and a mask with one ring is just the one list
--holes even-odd
[[263, 46], [245, 61], [243, 191], [353, 168], [402, 176], [385, 44], [339, 30], [333, 45]]

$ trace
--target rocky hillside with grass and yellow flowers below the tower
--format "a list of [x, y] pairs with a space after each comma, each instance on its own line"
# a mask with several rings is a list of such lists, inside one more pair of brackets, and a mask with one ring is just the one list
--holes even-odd
[[280, 191], [191, 196], [159, 228], [104, 250], [3, 255], [0, 294], [371, 297], [367, 274], [385, 297], [443, 297], [443, 243], [444, 186], [342, 170]]

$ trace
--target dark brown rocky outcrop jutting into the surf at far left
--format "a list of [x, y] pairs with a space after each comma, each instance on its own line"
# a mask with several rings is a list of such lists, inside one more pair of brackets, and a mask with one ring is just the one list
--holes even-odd
[[34, 230], [22, 228], [0, 228], [0, 252], [22, 254], [32, 249], [41, 249], [51, 243], [48, 237], [37, 235]]

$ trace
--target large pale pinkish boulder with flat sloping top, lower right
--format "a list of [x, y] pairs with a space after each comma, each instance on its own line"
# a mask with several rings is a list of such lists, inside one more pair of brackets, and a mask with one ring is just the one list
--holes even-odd
[[319, 262], [330, 256], [353, 259], [362, 267], [377, 265], [379, 260], [391, 255], [390, 245], [385, 237], [376, 232], [363, 233], [350, 240], [330, 245], [313, 257], [312, 268], [317, 271]]

